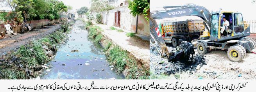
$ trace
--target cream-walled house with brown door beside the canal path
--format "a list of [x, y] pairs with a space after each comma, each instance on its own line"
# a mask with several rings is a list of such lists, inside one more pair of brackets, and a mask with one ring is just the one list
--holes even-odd
[[130, 14], [128, 0], [107, 0], [107, 2], [109, 5], [114, 6], [114, 9], [101, 12], [103, 24], [149, 36], [149, 22], [143, 15], [139, 15], [137, 18]]

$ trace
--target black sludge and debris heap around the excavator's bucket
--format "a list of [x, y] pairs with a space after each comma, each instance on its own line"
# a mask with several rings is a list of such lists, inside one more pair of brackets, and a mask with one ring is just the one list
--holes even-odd
[[[158, 46], [158, 45], [157, 45]], [[158, 46], [159, 47], [159, 46]], [[175, 74], [179, 72], [195, 71], [197, 65], [206, 65], [204, 55], [195, 54], [193, 44], [183, 41], [180, 46], [176, 48], [170, 47], [167, 44], [168, 51], [184, 51], [186, 63], [168, 62], [167, 59], [161, 58], [154, 44], [150, 43], [150, 71], [154, 71], [156, 74]]]

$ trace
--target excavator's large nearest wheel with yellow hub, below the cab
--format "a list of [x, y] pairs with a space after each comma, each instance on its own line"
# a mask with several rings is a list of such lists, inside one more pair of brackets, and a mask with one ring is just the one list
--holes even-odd
[[236, 45], [231, 46], [227, 50], [227, 57], [229, 58], [229, 60], [231, 60], [233, 62], [241, 62], [244, 57], [242, 48], [240, 48], [239, 46], [236, 46]]

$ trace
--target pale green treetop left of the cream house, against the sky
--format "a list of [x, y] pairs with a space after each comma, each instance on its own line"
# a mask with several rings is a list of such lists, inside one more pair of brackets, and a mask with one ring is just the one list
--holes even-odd
[[90, 11], [101, 12], [114, 9], [113, 6], [107, 4], [106, 0], [91, 0]]

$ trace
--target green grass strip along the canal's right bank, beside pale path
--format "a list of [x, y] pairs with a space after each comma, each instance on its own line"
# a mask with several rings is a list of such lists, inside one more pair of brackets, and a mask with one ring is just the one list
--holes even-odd
[[[101, 34], [102, 29], [98, 26], [90, 26], [89, 28], [89, 37], [92, 41], [99, 43], [102, 41], [103, 51], [107, 56], [107, 61], [115, 66], [115, 70], [118, 73], [122, 73], [124, 69], [128, 68], [128, 74], [126, 79], [149, 79], [149, 70], [139, 67], [136, 60], [129, 57], [129, 53], [125, 50], [122, 50], [119, 46], [113, 45], [111, 41], [104, 39]], [[110, 27], [112, 30], [116, 30], [114, 27]], [[117, 30], [118, 32], [123, 32], [123, 30]], [[134, 34], [133, 34], [134, 35]], [[133, 36], [132, 36], [133, 37]]]

